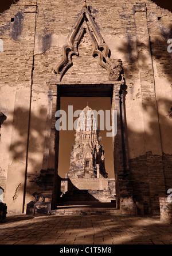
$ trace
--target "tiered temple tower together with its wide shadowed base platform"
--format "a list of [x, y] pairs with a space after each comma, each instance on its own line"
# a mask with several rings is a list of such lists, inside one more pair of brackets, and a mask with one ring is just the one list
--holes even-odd
[[115, 179], [105, 171], [105, 154], [100, 145], [96, 111], [85, 107], [79, 115], [70, 168], [61, 180], [62, 202], [111, 202], [115, 199]]

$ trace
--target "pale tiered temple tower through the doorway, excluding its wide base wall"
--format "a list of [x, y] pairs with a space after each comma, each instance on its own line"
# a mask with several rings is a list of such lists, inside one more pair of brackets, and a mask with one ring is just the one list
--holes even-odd
[[88, 106], [79, 116], [75, 136], [75, 145], [71, 150], [69, 178], [107, 178], [97, 119]]

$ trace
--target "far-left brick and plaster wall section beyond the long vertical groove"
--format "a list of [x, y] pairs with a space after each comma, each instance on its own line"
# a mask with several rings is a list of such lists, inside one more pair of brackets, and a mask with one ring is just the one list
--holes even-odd
[[22, 212], [28, 161], [36, 8], [28, 10], [25, 5], [36, 5], [36, 1], [31, 2], [21, 1], [11, 6], [0, 18], [1, 109], [7, 116], [2, 127], [1, 166], [7, 177], [5, 200], [14, 212]]

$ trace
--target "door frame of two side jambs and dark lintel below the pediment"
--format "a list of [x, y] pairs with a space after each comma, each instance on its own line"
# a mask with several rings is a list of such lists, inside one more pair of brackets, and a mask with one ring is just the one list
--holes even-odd
[[[124, 198], [130, 197], [131, 191], [127, 190], [127, 176], [126, 171], [128, 168], [127, 160], [127, 144], [125, 133], [125, 115], [124, 115], [124, 102], [123, 102], [123, 88], [122, 82], [115, 82], [113, 84], [49, 84], [50, 93], [52, 96], [52, 137], [55, 140], [55, 175], [54, 187], [52, 196], [52, 209], [56, 209], [60, 201], [61, 194], [61, 178], [58, 176], [58, 153], [60, 134], [54, 129], [54, 118], [56, 111], [60, 110], [61, 97], [110, 97], [111, 110], [118, 111], [117, 134], [112, 137], [113, 151], [114, 151], [114, 172], [115, 172], [115, 189], [116, 189], [116, 208], [120, 209], [121, 202], [126, 201]], [[54, 118], [54, 120], [53, 120]], [[125, 179], [125, 182], [124, 182]], [[123, 185], [123, 182], [125, 183]], [[122, 199], [122, 200], [121, 200]], [[131, 203], [131, 202], [130, 202]]]

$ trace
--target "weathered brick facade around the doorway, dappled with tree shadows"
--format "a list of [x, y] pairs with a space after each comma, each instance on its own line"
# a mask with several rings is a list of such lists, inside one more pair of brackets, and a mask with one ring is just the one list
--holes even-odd
[[[34, 193], [53, 194], [57, 201], [57, 85], [115, 84], [93, 58], [87, 33], [79, 44], [79, 56], [72, 57], [73, 66], [61, 80], [54, 74], [83, 3], [20, 0], [0, 16], [0, 111], [7, 116], [1, 128], [0, 187], [9, 212], [25, 210]], [[172, 188], [172, 55], [167, 51], [172, 14], [148, 0], [88, 0], [87, 5], [111, 58], [123, 62], [124, 80], [115, 85], [126, 88], [122, 148], [120, 136], [114, 142], [118, 153], [126, 154], [114, 153], [119, 157], [114, 159], [119, 201], [130, 195], [138, 211], [159, 212], [159, 197]], [[113, 95], [112, 99], [119, 98], [119, 92]], [[120, 104], [113, 102], [112, 108], [119, 110]], [[122, 205], [129, 209], [129, 201]]]

